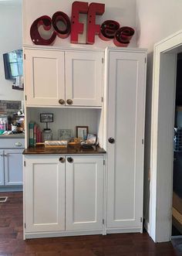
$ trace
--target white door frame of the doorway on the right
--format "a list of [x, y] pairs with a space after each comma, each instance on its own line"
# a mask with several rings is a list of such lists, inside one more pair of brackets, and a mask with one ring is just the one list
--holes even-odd
[[155, 242], [171, 240], [177, 53], [181, 51], [182, 30], [153, 49], [149, 234]]

